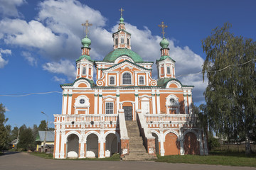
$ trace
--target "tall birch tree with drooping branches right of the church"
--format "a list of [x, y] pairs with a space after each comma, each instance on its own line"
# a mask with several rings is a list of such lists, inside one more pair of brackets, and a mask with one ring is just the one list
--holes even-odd
[[256, 117], [256, 43], [234, 36], [225, 23], [202, 40], [203, 63], [208, 86], [204, 93], [209, 128], [219, 137], [239, 140], [245, 137], [245, 153], [250, 154], [249, 132]]

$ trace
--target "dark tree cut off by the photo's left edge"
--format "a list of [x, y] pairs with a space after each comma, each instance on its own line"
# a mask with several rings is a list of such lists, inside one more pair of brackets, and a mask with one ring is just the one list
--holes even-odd
[[8, 147], [8, 130], [4, 126], [8, 118], [5, 118], [5, 107], [0, 104], [0, 150], [6, 149]]

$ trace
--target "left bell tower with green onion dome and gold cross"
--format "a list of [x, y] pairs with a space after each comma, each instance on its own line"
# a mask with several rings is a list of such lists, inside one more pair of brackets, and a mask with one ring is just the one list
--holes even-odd
[[76, 78], [86, 78], [86, 79], [93, 79], [93, 60], [90, 57], [90, 45], [91, 40], [88, 38], [88, 28], [92, 26], [91, 23], [86, 21], [82, 23], [82, 26], [85, 26], [85, 38], [82, 38], [82, 55], [76, 60], [77, 64], [77, 76]]

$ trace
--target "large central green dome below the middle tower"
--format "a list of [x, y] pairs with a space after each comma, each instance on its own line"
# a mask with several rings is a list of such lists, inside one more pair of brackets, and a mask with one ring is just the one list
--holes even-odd
[[117, 48], [116, 50], [110, 52], [103, 59], [103, 62], [114, 62], [114, 60], [122, 55], [127, 55], [128, 57], [132, 58], [134, 62], [143, 62], [142, 57], [140, 57], [136, 52], [133, 52], [127, 48]]

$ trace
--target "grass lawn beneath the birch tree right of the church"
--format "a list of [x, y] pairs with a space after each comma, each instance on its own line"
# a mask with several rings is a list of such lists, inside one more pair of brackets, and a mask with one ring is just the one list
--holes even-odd
[[156, 162], [256, 167], [256, 154], [252, 154], [250, 157], [245, 156], [245, 153], [242, 152], [210, 152], [208, 156], [171, 155], [159, 156]]

